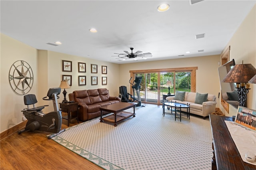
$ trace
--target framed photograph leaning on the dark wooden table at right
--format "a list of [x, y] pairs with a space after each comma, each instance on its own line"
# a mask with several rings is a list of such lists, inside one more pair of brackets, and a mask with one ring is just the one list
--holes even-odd
[[256, 111], [238, 106], [235, 123], [246, 129], [256, 130]]

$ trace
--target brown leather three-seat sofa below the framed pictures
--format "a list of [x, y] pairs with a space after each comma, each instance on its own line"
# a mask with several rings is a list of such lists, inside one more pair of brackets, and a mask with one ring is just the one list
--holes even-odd
[[[100, 107], [121, 102], [119, 97], [109, 96], [108, 89], [77, 90], [68, 94], [70, 101], [78, 102], [78, 119], [88, 121], [100, 117]], [[109, 112], [102, 112], [106, 115]]]

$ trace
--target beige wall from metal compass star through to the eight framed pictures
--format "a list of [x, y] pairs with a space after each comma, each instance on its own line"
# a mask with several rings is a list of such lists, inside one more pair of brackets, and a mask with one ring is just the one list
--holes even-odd
[[[72, 87], [66, 89], [68, 93], [72, 93], [74, 90], [107, 88], [110, 91], [110, 95], [118, 96], [119, 94], [118, 80], [116, 81], [116, 77], [119, 77], [118, 64], [53, 51], [37, 50], [4, 34], [1, 34], [0, 54], [0, 132], [22, 122], [21, 110], [25, 108], [23, 95], [14, 93], [8, 81], [10, 67], [17, 60], [24, 60], [32, 67], [34, 84], [28, 94], [36, 95], [38, 100], [36, 106], [49, 105], [43, 110], [44, 113], [54, 109], [52, 101], [43, 101], [42, 97], [46, 96], [50, 87], [58, 87], [60, 85], [62, 75], [72, 75]], [[72, 72], [62, 72], [62, 60], [72, 61]], [[86, 63], [86, 73], [78, 73], [78, 62]], [[90, 64], [98, 65], [98, 73], [91, 74]], [[107, 74], [102, 74], [102, 65], [107, 66]], [[86, 75], [86, 86], [78, 86], [78, 75]], [[98, 85], [91, 85], [91, 75], [98, 76]], [[108, 77], [107, 85], [102, 85], [102, 76]], [[66, 97], [68, 99], [68, 94]], [[63, 98], [64, 96], [61, 93], [58, 102], [61, 102]]]

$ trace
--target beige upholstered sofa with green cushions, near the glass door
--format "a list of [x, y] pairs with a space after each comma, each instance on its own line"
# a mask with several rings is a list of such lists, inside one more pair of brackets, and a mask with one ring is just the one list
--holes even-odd
[[[176, 93], [177, 94], [177, 93]], [[175, 95], [176, 95], [175, 94]], [[200, 96], [201, 94], [198, 93]], [[202, 102], [202, 104], [198, 104], [198, 99], [196, 100], [197, 94], [194, 92], [185, 92], [184, 99], [182, 100], [177, 100], [175, 96], [168, 96], [166, 97], [166, 100], [172, 101], [172, 102], [177, 102], [177, 103], [183, 103], [183, 104], [189, 104], [190, 105], [190, 113], [195, 114], [195, 115], [200, 115], [204, 119], [209, 116], [212, 112], [215, 112], [215, 107], [216, 107], [216, 96], [212, 94], [208, 94], [207, 99], [205, 98], [206, 101]], [[197, 103], [195, 103], [197, 101]], [[186, 109], [182, 109], [182, 111], [186, 111]]]

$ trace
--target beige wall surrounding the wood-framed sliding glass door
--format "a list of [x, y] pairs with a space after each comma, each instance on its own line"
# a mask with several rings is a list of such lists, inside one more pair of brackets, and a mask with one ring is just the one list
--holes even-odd
[[127, 89], [130, 88], [128, 82], [130, 70], [198, 67], [196, 70], [196, 91], [218, 96], [220, 91], [218, 62], [220, 62], [220, 55], [122, 64], [120, 65], [119, 83], [120, 86], [125, 85]]

